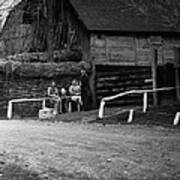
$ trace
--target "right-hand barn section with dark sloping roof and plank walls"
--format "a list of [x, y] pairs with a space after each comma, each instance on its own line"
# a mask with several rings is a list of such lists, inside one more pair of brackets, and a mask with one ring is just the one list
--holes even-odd
[[[142, 13], [132, 1], [69, 2], [84, 27], [83, 54], [95, 67], [97, 101], [127, 90], [179, 84], [175, 67], [180, 55], [180, 31], [167, 25], [148, 1], [145, 1], [147, 13]], [[163, 100], [165, 97], [161, 96]], [[133, 96], [114, 104], [137, 102], [141, 103], [141, 99]]]

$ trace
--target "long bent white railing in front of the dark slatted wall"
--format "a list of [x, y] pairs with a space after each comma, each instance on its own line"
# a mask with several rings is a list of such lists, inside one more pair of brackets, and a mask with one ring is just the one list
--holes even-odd
[[[172, 91], [175, 89], [177, 89], [177, 88], [175, 88], [175, 87], [162, 87], [162, 88], [147, 89], [147, 90], [131, 90], [131, 91], [119, 93], [119, 94], [114, 95], [114, 96], [104, 97], [104, 98], [102, 98], [101, 103], [100, 103], [98, 118], [102, 119], [104, 117], [104, 108], [105, 108], [105, 105], [108, 101], [112, 101], [112, 100], [115, 100], [117, 98], [127, 96], [130, 94], [143, 94], [143, 112], [145, 113], [147, 111], [147, 108], [148, 108], [148, 93], [154, 93], [154, 92], [159, 92], [159, 91]], [[131, 112], [131, 114], [132, 114], [132, 112]]]

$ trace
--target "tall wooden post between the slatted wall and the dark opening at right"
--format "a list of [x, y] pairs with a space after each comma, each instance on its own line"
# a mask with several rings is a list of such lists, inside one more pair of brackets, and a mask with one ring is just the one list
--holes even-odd
[[[153, 52], [152, 52], [152, 80], [153, 80], [153, 89], [157, 88], [157, 60], [158, 60], [158, 50], [153, 48]], [[158, 105], [158, 96], [157, 96], [157, 92], [153, 93], [153, 104], [154, 106]]]

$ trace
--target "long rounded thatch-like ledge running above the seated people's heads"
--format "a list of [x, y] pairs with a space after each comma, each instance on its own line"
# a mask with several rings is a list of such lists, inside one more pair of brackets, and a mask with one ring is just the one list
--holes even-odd
[[54, 78], [60, 76], [79, 75], [81, 69], [92, 71], [90, 62], [62, 62], [62, 63], [21, 63], [14, 61], [0, 61], [0, 73], [8, 77], [19, 78]]

